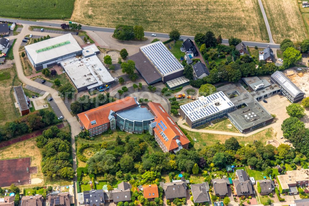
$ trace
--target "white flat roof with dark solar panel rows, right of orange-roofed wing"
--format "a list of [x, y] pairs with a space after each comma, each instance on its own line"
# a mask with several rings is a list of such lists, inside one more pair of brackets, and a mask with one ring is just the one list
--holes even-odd
[[234, 104], [220, 91], [207, 97], [201, 96], [198, 100], [181, 105], [180, 108], [192, 121], [216, 114], [233, 107]]

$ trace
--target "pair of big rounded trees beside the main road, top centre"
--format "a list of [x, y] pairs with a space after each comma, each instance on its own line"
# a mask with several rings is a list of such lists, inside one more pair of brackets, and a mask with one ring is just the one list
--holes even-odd
[[142, 40], [144, 38], [144, 28], [140, 25], [129, 26], [118, 24], [114, 30], [114, 35], [119, 40]]

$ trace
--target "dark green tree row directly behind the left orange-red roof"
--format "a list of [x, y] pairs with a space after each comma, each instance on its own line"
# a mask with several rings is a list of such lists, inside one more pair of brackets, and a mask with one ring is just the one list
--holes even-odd
[[109, 92], [106, 94], [100, 93], [92, 98], [88, 95], [83, 95], [71, 104], [71, 110], [73, 114], [78, 114], [113, 101], [115, 101], [115, 99], [109, 96]]

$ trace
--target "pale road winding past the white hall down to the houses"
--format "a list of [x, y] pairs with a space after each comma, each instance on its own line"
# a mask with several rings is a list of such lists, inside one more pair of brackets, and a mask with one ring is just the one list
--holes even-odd
[[[39, 89], [44, 90], [46, 92], [49, 92], [49, 94], [53, 97], [53, 101], [55, 101], [55, 103], [59, 107], [64, 118], [66, 118], [66, 120], [69, 122], [70, 127], [71, 127], [71, 145], [72, 145], [73, 169], [76, 173], [76, 151], [75, 151], [75, 137], [74, 136], [77, 135], [81, 131], [79, 122], [77, 121], [77, 119], [74, 116], [71, 115], [69, 110], [66, 108], [66, 105], [64, 104], [62, 99], [59, 97], [57, 90], [50, 88], [50, 87], [47, 87], [44, 84], [40, 84], [38, 82], [32, 81], [32, 80], [28, 79], [23, 73], [23, 67], [22, 67], [22, 64], [21, 64], [21, 61], [20, 61], [20, 57], [19, 57], [19, 46], [22, 43], [24, 34], [25, 35], [30, 34], [28, 27], [29, 27], [29, 25], [23, 24], [23, 29], [20, 32], [20, 34], [10, 37], [12, 39], [16, 38], [15, 46], [13, 47], [13, 55], [14, 55], [17, 75], [23, 83], [28, 84], [28, 85], [33, 86], [33, 87], [36, 87], [36, 88], [39, 88]], [[32, 32], [32, 31], [31, 31], [31, 33], [34, 34], [34, 32]], [[49, 34], [49, 35], [55, 36], [55, 34]], [[73, 180], [74, 180], [74, 198], [75, 198], [75, 202], [77, 202], [77, 200], [76, 200], [76, 195], [77, 195], [77, 193], [76, 193], [76, 191], [77, 191], [76, 174], [74, 175]]]

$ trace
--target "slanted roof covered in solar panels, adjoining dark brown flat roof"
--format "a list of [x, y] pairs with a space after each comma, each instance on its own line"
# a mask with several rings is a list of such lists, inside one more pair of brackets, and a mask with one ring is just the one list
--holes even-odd
[[184, 68], [162, 41], [142, 46], [140, 49], [163, 76]]

